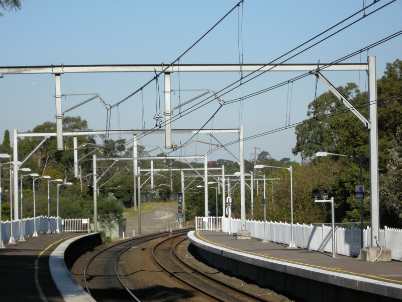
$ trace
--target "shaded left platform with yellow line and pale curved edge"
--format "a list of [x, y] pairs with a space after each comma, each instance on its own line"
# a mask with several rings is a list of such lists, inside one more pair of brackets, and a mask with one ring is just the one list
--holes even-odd
[[5, 244], [0, 249], [0, 300], [93, 301], [76, 286], [63, 259], [66, 248], [80, 237], [82, 234], [58, 233]]

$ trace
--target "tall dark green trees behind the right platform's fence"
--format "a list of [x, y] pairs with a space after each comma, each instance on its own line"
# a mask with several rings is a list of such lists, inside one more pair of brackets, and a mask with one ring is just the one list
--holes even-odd
[[[367, 116], [367, 93], [361, 93], [357, 86], [348, 83], [338, 90], [359, 111]], [[400, 141], [398, 126], [402, 124], [402, 61], [387, 63], [384, 75], [377, 81], [378, 92], [378, 162], [380, 173], [380, 216], [381, 225], [402, 226], [398, 190], [393, 190], [398, 182], [398, 156]], [[369, 148], [368, 130], [352, 113], [345, 110], [342, 103], [327, 92], [312, 101], [308, 106], [309, 119], [295, 128], [297, 142], [293, 154], [300, 154], [307, 166], [315, 153], [326, 151], [334, 154], [363, 157], [363, 185], [366, 188], [363, 201], [364, 221], [370, 220], [369, 195]], [[331, 175], [323, 185], [335, 197], [335, 220], [337, 222], [359, 222], [360, 201], [354, 197], [354, 188], [359, 184], [359, 161], [353, 158], [328, 156], [317, 158], [315, 165], [333, 164], [333, 169], [326, 171]], [[323, 178], [324, 171], [316, 177]], [[315, 189], [319, 189], [316, 187]], [[322, 187], [321, 187], [322, 188]], [[394, 192], [394, 193], [392, 193]], [[327, 212], [327, 221], [329, 218]]]

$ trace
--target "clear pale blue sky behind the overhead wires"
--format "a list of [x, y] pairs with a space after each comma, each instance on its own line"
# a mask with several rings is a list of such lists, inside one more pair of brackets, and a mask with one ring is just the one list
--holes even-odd
[[[326, 37], [347, 24], [362, 19], [345, 30], [292, 58], [296, 52], [311, 46], [314, 40], [281, 59], [289, 50], [310, 40], [330, 27], [363, 9], [372, 2], [365, 0], [245, 0], [235, 8], [203, 39], [181, 56], [191, 45], [207, 33], [219, 20], [236, 7], [238, 1], [78, 1], [78, 0], [26, 0], [18, 12], [4, 12], [0, 18], [2, 29], [0, 67], [89, 64], [169, 64], [180, 57], [180, 64], [266, 64], [270, 62], [293, 64], [330, 63], [350, 53], [365, 48], [402, 29], [400, 12], [402, 1], [381, 0], [351, 18]], [[382, 6], [388, 6], [380, 9]], [[377, 9], [377, 12], [373, 12]], [[373, 12], [373, 13], [372, 13]], [[370, 14], [372, 13], [372, 14]], [[402, 59], [402, 36], [353, 56], [345, 63], [366, 62], [367, 56], [376, 57], [376, 78], [383, 75], [387, 62]], [[240, 59], [239, 59], [240, 58]], [[246, 81], [232, 91], [226, 87], [240, 80], [239, 72], [174, 72], [171, 74], [171, 107], [210, 89], [222, 91], [225, 102], [242, 98], [300, 75], [300, 72], [266, 72]], [[88, 98], [83, 94], [99, 94], [109, 104], [116, 104], [154, 78], [152, 72], [138, 73], [69, 73], [61, 75], [63, 110]], [[248, 75], [243, 73], [243, 77]], [[346, 83], [358, 84], [367, 90], [364, 71], [331, 71], [324, 76], [336, 87]], [[35, 83], [35, 84], [32, 84]], [[232, 86], [233, 87], [233, 86]], [[182, 90], [179, 93], [177, 90]], [[163, 77], [159, 88], [152, 81], [142, 94], [138, 93], [111, 113], [110, 129], [152, 129], [154, 115], [158, 112], [160, 94], [163, 115]], [[317, 95], [328, 89], [321, 83]], [[82, 94], [82, 95], [79, 95]], [[253, 98], [224, 105], [210, 102], [172, 123], [173, 129], [216, 129], [244, 127], [244, 137], [272, 131], [272, 134], [247, 139], [244, 145], [246, 160], [254, 159], [262, 150], [272, 158], [290, 158], [300, 162], [291, 149], [296, 144], [294, 127], [273, 131], [307, 119], [308, 105], [314, 100], [316, 85], [314, 75], [290, 82]], [[5, 74], [0, 78], [0, 142], [6, 129], [13, 133], [32, 130], [45, 121], [55, 122], [55, 88], [52, 74]], [[200, 98], [192, 104], [203, 101]], [[208, 100], [211, 100], [208, 99]], [[202, 103], [205, 104], [206, 102]], [[184, 106], [183, 110], [190, 106]], [[81, 116], [93, 130], [106, 130], [107, 110], [98, 99], [66, 113]], [[174, 118], [179, 112], [174, 111]], [[223, 144], [236, 141], [237, 134], [217, 134]], [[112, 139], [130, 136], [113, 135]], [[12, 139], [12, 138], [11, 138]], [[211, 142], [211, 137], [198, 134], [172, 135], [176, 145], [189, 139]], [[100, 138], [97, 138], [100, 143]], [[142, 136], [139, 144], [146, 150], [164, 149], [164, 135], [151, 133]], [[255, 147], [257, 149], [255, 149]], [[202, 155], [211, 145], [195, 142], [179, 148], [170, 155]], [[160, 153], [161, 149], [151, 152]], [[228, 149], [239, 158], [239, 144]], [[223, 149], [209, 155], [208, 160], [233, 160]]]

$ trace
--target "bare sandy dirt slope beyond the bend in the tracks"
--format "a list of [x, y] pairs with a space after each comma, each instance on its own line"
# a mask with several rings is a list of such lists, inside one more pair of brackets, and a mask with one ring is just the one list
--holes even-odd
[[[176, 225], [177, 203], [147, 203], [147, 210], [141, 210], [141, 233], [142, 235], [169, 231]], [[145, 205], [143, 206], [145, 208]], [[139, 235], [138, 216], [129, 216], [123, 213], [126, 218], [127, 237]]]

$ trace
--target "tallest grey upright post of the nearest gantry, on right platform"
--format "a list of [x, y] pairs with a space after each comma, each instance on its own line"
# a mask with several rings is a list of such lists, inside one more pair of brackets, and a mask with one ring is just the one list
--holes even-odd
[[376, 246], [375, 238], [379, 238], [379, 183], [378, 183], [378, 127], [377, 127], [377, 80], [375, 56], [368, 57], [368, 118], [370, 148], [370, 218], [371, 246]]

